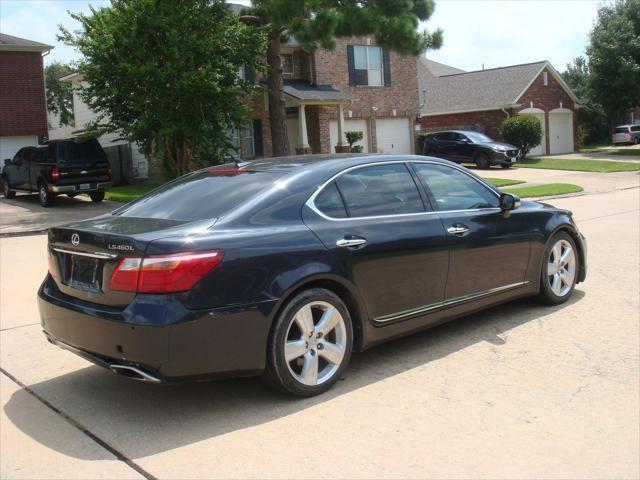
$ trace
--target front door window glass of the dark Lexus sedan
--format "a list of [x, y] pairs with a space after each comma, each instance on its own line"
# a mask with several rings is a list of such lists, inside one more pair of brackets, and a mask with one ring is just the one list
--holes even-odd
[[415, 163], [420, 181], [431, 191], [439, 211], [498, 208], [498, 197], [487, 187], [456, 168]]

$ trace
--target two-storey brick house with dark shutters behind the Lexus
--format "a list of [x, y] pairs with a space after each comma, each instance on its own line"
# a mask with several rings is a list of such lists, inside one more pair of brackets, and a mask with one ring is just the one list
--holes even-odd
[[[361, 131], [364, 152], [411, 153], [418, 113], [417, 59], [388, 52], [370, 37], [337, 38], [333, 50], [282, 48], [291, 153], [334, 153], [344, 132]], [[250, 100], [242, 156], [270, 156], [266, 93]]]

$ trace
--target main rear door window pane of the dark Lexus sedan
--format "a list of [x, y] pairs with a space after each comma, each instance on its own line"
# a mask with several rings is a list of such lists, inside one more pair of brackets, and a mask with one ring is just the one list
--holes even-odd
[[402, 163], [362, 167], [336, 180], [349, 217], [424, 212], [413, 177]]

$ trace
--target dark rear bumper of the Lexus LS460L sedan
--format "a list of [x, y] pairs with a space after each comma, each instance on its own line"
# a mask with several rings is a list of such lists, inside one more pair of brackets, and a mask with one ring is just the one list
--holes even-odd
[[69, 297], [49, 276], [38, 291], [51, 343], [151, 383], [259, 374], [275, 303], [194, 311], [176, 295], [138, 295], [118, 310]]

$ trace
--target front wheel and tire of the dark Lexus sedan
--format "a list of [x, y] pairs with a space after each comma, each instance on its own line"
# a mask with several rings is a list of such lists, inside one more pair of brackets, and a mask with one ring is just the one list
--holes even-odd
[[[568, 248], [571, 252], [565, 260], [562, 260]], [[580, 255], [571, 235], [558, 232], [551, 237], [545, 248], [542, 262], [538, 301], [546, 305], [559, 305], [566, 302], [573, 293], [580, 270]], [[550, 275], [550, 268], [557, 271]]]

